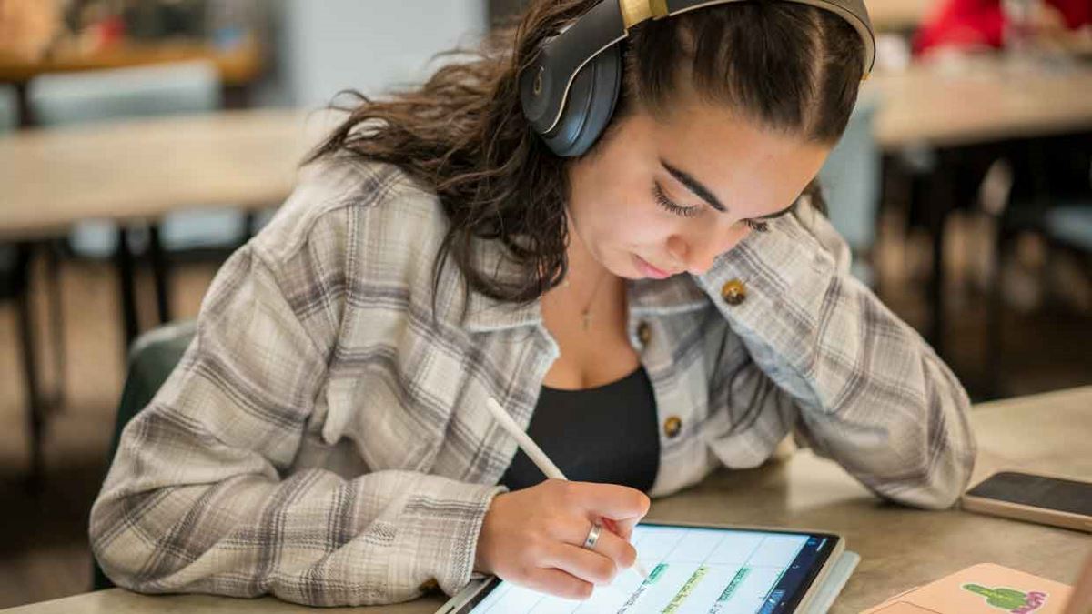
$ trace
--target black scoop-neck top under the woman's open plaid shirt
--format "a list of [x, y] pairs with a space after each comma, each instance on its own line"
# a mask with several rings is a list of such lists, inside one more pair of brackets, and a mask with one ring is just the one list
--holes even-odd
[[[543, 387], [527, 435], [574, 482], [652, 488], [660, 469], [656, 400], [644, 367], [584, 390]], [[500, 483], [511, 491], [546, 480], [519, 450]]]

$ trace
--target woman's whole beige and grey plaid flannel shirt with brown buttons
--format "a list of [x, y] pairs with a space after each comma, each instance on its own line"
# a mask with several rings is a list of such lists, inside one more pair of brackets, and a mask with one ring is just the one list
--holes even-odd
[[[537, 305], [464, 296], [453, 265], [432, 317], [446, 228], [436, 194], [393, 166], [305, 168], [217, 273], [185, 357], [121, 436], [91, 515], [116, 583], [335, 605], [470, 580], [517, 451], [486, 399], [525, 427], [559, 352]], [[879, 496], [956, 500], [975, 451], [968, 397], [847, 271], [844, 243], [806, 209], [703, 275], [627, 282], [658, 420], [681, 424], [661, 429], [652, 496], [758, 465], [796, 433]], [[729, 280], [747, 290], [735, 306]]]

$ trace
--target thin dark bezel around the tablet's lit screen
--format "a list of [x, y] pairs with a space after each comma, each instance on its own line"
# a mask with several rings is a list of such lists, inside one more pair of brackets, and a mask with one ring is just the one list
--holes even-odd
[[[640, 524], [652, 527], [678, 527], [684, 529], [727, 529], [731, 531], [757, 531], [763, 533], [786, 533], [793, 535], [803, 534], [833, 539], [834, 545], [827, 551], [827, 557], [821, 564], [818, 565], [818, 569], [809, 576], [807, 589], [799, 594], [799, 599], [795, 603], [791, 602], [788, 604], [791, 610], [786, 609], [782, 614], [793, 614], [805, 611], [811, 600], [815, 599], [818, 587], [822, 586], [827, 576], [830, 575], [830, 570], [834, 566], [834, 563], [838, 562], [839, 556], [841, 556], [842, 552], [845, 550], [845, 538], [841, 534], [811, 529], [785, 529], [745, 524], [710, 524], [701, 522], [666, 522], [663, 520], [645, 520], [640, 522]], [[471, 583], [463, 588], [463, 590], [459, 591], [458, 594], [441, 605], [440, 609], [436, 611], [436, 614], [468, 614], [474, 606], [480, 603], [498, 585], [500, 585], [500, 581], [501, 580], [496, 576], [486, 576], [484, 578], [472, 580]]]

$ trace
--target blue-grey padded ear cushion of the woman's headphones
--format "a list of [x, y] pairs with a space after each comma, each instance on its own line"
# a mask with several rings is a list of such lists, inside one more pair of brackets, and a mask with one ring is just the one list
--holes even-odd
[[621, 87], [620, 47], [615, 44], [601, 51], [572, 80], [557, 126], [542, 135], [555, 154], [584, 154], [610, 122]]

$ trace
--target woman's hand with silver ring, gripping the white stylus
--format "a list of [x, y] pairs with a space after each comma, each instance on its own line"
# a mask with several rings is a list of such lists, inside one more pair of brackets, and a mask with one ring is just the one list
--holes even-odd
[[[474, 570], [566, 599], [587, 599], [633, 565], [633, 527], [649, 497], [614, 484], [547, 480], [494, 497], [478, 534]], [[614, 522], [594, 550], [583, 547], [593, 523]]]

